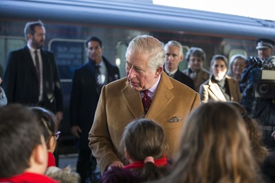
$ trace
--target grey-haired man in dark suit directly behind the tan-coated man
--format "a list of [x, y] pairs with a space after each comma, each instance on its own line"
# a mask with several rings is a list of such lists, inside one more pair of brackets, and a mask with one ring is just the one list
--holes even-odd
[[164, 50], [166, 52], [164, 72], [166, 72], [168, 76], [178, 80], [180, 83], [194, 89], [194, 81], [192, 78], [179, 70], [179, 63], [184, 60], [181, 43], [177, 41], [169, 41], [164, 46]]

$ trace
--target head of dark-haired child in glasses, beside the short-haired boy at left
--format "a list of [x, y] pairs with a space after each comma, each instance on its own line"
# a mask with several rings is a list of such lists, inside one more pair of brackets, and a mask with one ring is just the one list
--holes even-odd
[[47, 109], [42, 107], [30, 107], [30, 109], [36, 114], [39, 120], [39, 125], [43, 129], [43, 135], [47, 142], [47, 148], [50, 152], [54, 152], [56, 148], [56, 138], [59, 135], [58, 120], [56, 116]]

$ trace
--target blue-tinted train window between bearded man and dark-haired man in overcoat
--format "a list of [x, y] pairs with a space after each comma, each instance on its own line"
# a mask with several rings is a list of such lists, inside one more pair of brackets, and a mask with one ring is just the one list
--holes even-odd
[[71, 82], [74, 69], [87, 61], [85, 40], [51, 39], [49, 50], [54, 52], [61, 82]]

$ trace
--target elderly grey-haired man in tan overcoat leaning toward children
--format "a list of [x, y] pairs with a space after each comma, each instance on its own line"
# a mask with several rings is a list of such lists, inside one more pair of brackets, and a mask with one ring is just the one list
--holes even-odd
[[101, 173], [109, 166], [124, 166], [121, 136], [137, 118], [158, 122], [166, 134], [169, 157], [177, 152], [183, 122], [201, 101], [199, 94], [163, 72], [164, 56], [162, 42], [148, 35], [135, 37], [126, 51], [126, 77], [102, 88], [89, 132], [89, 147]]

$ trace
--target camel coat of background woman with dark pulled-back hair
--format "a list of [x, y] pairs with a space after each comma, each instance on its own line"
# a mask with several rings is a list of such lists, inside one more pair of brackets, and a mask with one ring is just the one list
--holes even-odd
[[[231, 78], [230, 76], [226, 76], [226, 80], [228, 80], [228, 87], [230, 91], [230, 100], [240, 103], [241, 102], [241, 92], [239, 89], [239, 84], [236, 80]], [[201, 97], [202, 103], [207, 103], [210, 100], [214, 101], [223, 101], [226, 99], [219, 88], [217, 83], [212, 83], [211, 79], [206, 80], [199, 89], [199, 96]]]

